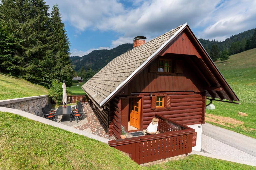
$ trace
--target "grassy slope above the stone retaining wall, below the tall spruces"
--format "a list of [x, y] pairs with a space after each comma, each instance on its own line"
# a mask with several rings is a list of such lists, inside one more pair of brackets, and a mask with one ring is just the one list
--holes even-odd
[[0, 100], [48, 94], [42, 86], [0, 73]]

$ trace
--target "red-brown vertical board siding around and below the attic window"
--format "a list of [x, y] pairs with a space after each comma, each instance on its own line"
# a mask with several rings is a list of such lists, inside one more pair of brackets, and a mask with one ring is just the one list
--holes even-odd
[[[153, 62], [157, 62], [157, 60]], [[203, 92], [204, 83], [197, 76], [186, 61], [184, 61], [183, 74], [150, 73], [147, 67], [124, 87], [122, 94], [151, 91]]]

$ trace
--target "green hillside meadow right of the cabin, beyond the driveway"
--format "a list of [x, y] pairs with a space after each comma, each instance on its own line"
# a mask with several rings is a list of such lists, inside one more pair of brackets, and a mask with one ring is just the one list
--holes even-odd
[[[216, 109], [206, 110], [206, 122], [256, 138], [256, 48], [215, 64], [237, 94], [241, 105], [214, 101]], [[238, 112], [247, 113], [248, 117], [240, 116]]]

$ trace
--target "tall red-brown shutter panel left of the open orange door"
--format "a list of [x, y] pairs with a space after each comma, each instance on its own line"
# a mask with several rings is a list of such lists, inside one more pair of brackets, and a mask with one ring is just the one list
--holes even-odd
[[121, 98], [121, 125], [128, 132], [129, 98]]

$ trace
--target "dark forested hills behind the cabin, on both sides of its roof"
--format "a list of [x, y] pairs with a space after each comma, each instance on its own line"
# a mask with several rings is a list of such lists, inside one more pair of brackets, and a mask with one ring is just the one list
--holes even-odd
[[[240, 53], [244, 50], [256, 48], [256, 29], [244, 31], [239, 34], [232, 35], [224, 41], [199, 39], [205, 47], [207, 53], [212, 60], [226, 61], [229, 55]], [[75, 75], [79, 75], [84, 80], [88, 80], [91, 75], [97, 73], [113, 58], [129, 51], [133, 48], [133, 44], [122, 44], [110, 50], [94, 50], [88, 55], [82, 57], [72, 56], [70, 59], [76, 65]], [[88, 72], [88, 73], [87, 73]]]

